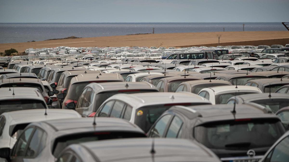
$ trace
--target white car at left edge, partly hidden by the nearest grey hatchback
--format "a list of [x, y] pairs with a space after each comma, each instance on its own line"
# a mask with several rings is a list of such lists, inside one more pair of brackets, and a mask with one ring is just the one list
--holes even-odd
[[30, 109], [30, 110], [18, 110], [11, 112], [4, 112], [0, 116], [0, 123], [4, 123], [0, 127], [0, 148], [12, 149], [16, 139], [23, 129], [29, 125], [29, 123], [42, 121], [42, 120], [53, 120], [53, 119], [64, 119], [64, 118], [81, 118], [81, 115], [74, 110], [67, 109]]

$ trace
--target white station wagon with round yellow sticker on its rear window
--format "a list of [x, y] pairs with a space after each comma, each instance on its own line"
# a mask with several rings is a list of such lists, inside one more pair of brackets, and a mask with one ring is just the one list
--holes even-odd
[[[129, 120], [147, 132], [155, 120], [173, 105], [203, 105], [210, 101], [193, 93], [134, 93], [116, 94], [103, 102], [96, 112], [98, 117]], [[125, 114], [122, 110], [125, 109]]]

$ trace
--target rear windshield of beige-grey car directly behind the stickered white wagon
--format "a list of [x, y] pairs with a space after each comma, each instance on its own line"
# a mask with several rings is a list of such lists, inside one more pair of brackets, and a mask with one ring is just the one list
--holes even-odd
[[97, 111], [97, 109], [99, 108], [99, 106], [101, 106], [101, 104], [108, 99], [109, 97], [118, 94], [118, 93], [125, 93], [125, 94], [132, 94], [132, 93], [147, 93], [147, 92], [158, 92], [157, 90], [147, 90], [147, 89], [129, 89], [129, 90], [119, 90], [119, 91], [114, 91], [114, 92], [103, 92], [103, 93], [99, 93], [96, 95], [95, 100], [96, 105], [94, 106], [94, 112]]

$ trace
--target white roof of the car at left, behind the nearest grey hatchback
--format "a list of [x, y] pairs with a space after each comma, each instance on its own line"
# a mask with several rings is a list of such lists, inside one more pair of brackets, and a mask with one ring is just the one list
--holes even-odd
[[[45, 109], [29, 109], [4, 112], [1, 115], [4, 115], [6, 118], [10, 119], [10, 125], [59, 118], [81, 118], [81, 115], [78, 112], [68, 109], [47, 109], [46, 113], [47, 115], [45, 115]], [[27, 116], [29, 116], [29, 118], [27, 118]]]

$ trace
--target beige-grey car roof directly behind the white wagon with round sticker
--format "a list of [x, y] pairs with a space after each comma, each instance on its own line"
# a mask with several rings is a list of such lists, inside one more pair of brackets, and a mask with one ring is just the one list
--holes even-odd
[[92, 88], [95, 93], [104, 91], [117, 90], [133, 90], [133, 89], [150, 89], [158, 91], [154, 85], [148, 82], [105, 82], [105, 83], [90, 83], [86, 87]]

